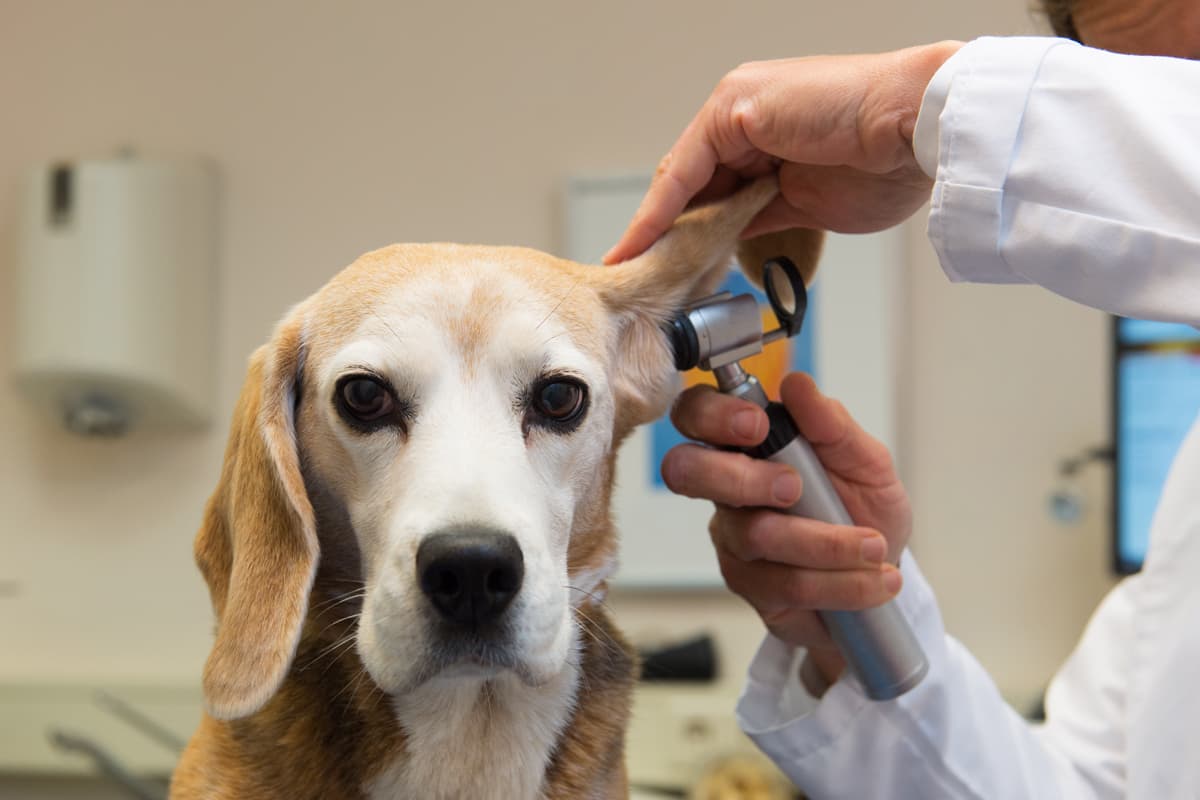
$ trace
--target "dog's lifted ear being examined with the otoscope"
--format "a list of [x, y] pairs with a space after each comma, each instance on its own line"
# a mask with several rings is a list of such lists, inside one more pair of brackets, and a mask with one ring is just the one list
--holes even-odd
[[[712, 294], [734, 251], [746, 276], [762, 285], [767, 258], [786, 255], [805, 282], [821, 253], [820, 230], [794, 229], [738, 242], [738, 235], [779, 191], [774, 178], [755, 181], [728, 198], [688, 211], [653, 247], [602, 270], [599, 291], [618, 320], [616, 392], [618, 431], [660, 416], [678, 379], [661, 325], [684, 306]], [[619, 435], [619, 434], [618, 434]]]

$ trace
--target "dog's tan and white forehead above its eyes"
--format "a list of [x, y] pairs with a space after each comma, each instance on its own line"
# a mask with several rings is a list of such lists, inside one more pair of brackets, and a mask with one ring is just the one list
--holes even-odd
[[[386, 338], [415, 351], [449, 343], [468, 366], [488, 350], [602, 359], [607, 319], [589, 267], [511, 247], [396, 245], [367, 253], [310, 301], [311, 356]], [[314, 335], [316, 333], [316, 335]]]

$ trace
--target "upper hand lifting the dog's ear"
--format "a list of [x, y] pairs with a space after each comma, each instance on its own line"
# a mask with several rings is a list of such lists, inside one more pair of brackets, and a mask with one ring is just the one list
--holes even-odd
[[779, 173], [780, 194], [743, 236], [816, 228], [882, 230], [929, 199], [912, 134], [925, 86], [962, 47], [746, 64], [716, 85], [671, 151], [624, 236], [605, 255], [637, 255], [692, 201]]

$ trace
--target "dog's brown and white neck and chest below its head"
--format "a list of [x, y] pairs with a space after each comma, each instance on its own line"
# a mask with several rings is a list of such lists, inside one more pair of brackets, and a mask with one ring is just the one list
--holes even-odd
[[632, 650], [602, 607], [576, 613], [574, 666], [547, 685], [434, 680], [403, 698], [311, 619], [276, 696], [245, 720], [205, 717], [193, 745], [208, 752], [190, 750], [176, 782], [208, 799], [624, 798]]

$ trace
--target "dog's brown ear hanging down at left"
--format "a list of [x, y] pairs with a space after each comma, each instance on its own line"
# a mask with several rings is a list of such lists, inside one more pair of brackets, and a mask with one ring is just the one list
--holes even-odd
[[300, 325], [286, 320], [251, 357], [221, 481], [196, 537], [217, 616], [204, 699], [220, 720], [253, 714], [271, 698], [307, 610], [317, 533], [296, 452], [300, 365]]

